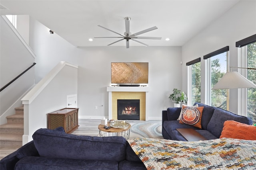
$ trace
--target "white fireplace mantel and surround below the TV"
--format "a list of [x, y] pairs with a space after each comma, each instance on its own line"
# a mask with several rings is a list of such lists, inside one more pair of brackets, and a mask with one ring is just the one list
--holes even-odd
[[[146, 111], [148, 110], [148, 92], [150, 88], [148, 86], [107, 86], [108, 92], [108, 119], [112, 119], [112, 92], [146, 92]], [[148, 116], [146, 114], [146, 121]]]

